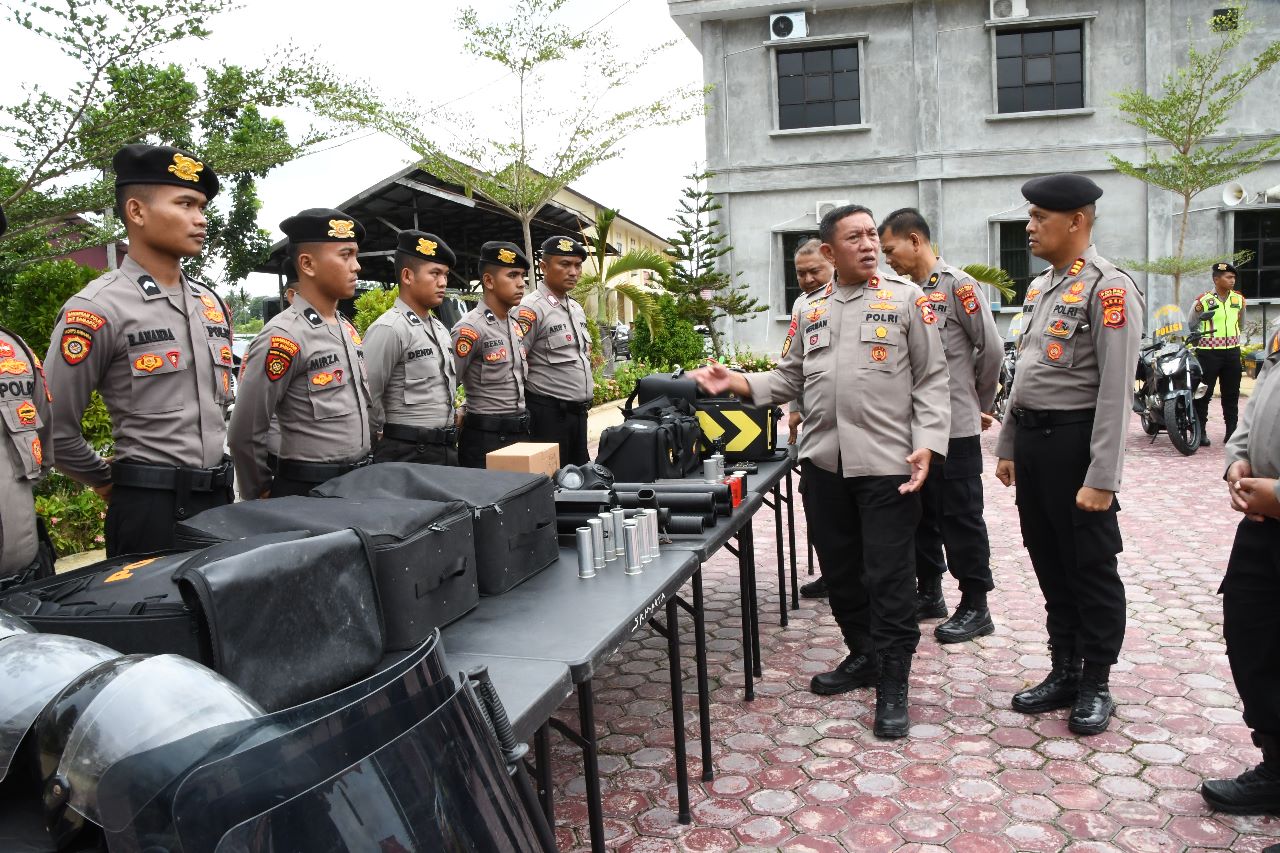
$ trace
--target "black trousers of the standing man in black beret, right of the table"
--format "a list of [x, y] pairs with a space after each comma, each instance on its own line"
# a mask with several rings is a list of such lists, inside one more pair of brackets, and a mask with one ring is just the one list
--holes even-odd
[[1124, 643], [1125, 599], [1116, 555], [1120, 524], [1111, 508], [1085, 512], [1075, 506], [1089, 467], [1093, 424], [1016, 429], [1014, 476], [1018, 520], [1044, 596], [1048, 639], [1074, 648], [1089, 663], [1110, 666]]

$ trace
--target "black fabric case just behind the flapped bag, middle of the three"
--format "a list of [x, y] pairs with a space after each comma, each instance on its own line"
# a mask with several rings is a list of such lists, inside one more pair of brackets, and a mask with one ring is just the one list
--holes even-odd
[[357, 528], [369, 535], [388, 651], [415, 648], [480, 601], [471, 512], [461, 501], [244, 501], [180, 523], [175, 539], [198, 548], [300, 528], [312, 533]]

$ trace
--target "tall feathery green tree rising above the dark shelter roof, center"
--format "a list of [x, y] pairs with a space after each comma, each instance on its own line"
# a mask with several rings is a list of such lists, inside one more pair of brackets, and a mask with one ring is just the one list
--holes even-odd
[[[454, 102], [428, 117], [388, 111], [379, 123], [422, 158], [424, 169], [518, 220], [529, 257], [534, 256], [530, 225], [556, 193], [617, 158], [635, 131], [676, 124], [701, 110], [703, 90], [696, 86], [620, 109], [627, 79], [668, 45], [648, 49], [636, 61], [618, 60], [607, 32], [571, 27], [559, 14], [566, 3], [515, 0], [492, 22], [483, 22], [476, 8], [462, 10], [458, 27], [467, 53], [515, 78], [509, 99], [481, 99], [489, 113], [495, 102], [506, 106], [508, 134], [485, 138]], [[547, 73], [557, 68], [582, 70], [572, 90], [547, 85]], [[444, 136], [452, 141], [442, 143]]]

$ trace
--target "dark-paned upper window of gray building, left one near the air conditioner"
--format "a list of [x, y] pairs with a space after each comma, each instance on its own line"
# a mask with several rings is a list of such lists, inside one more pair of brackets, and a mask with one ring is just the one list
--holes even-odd
[[778, 129], [861, 124], [858, 44], [780, 50]]

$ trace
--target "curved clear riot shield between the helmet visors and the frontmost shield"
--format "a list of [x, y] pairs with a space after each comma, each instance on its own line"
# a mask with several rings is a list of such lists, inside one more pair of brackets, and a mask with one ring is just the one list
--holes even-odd
[[99, 785], [110, 849], [212, 850], [229, 826], [380, 748], [452, 692], [436, 631], [328, 697], [129, 756]]

